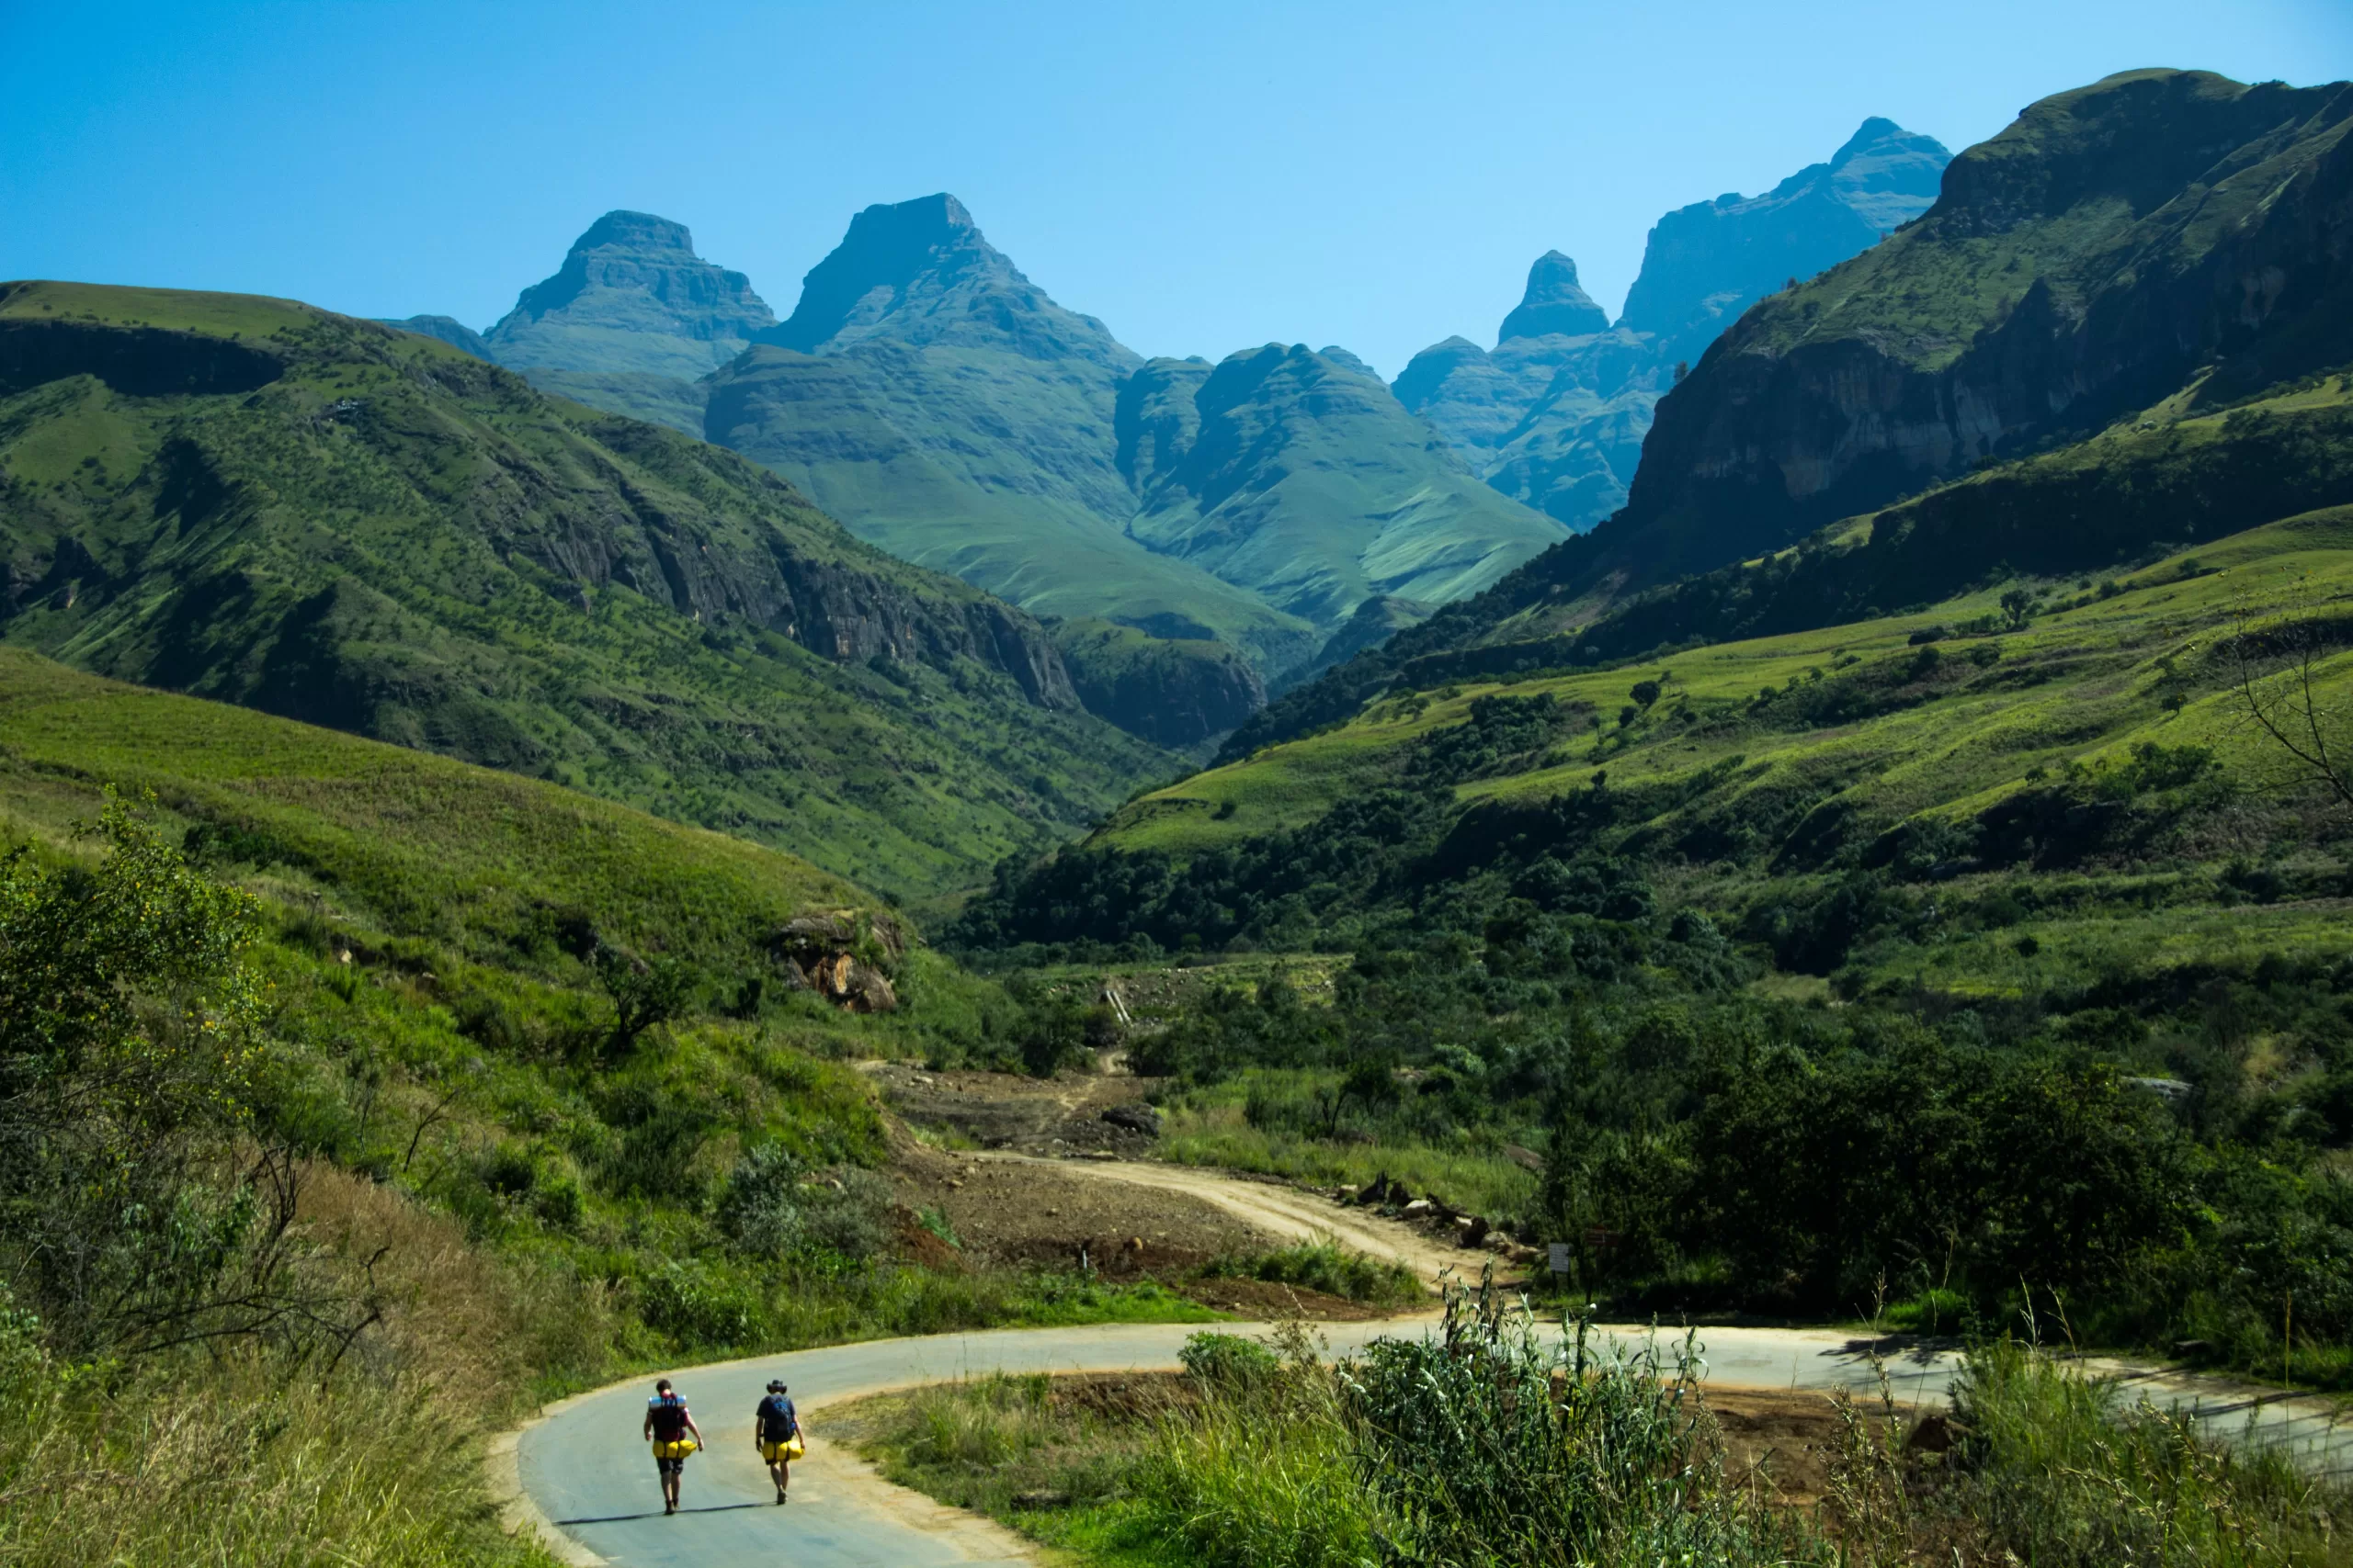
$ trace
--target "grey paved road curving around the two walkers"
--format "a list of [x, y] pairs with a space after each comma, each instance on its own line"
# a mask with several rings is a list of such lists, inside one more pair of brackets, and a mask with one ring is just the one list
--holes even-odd
[[[1322, 1324], [1334, 1354], [1377, 1335], [1424, 1333], [1428, 1319]], [[1233, 1324], [1235, 1333], [1271, 1333]], [[638, 1441], [652, 1375], [569, 1399], [520, 1436], [520, 1483], [546, 1523], [569, 1537], [576, 1563], [628, 1568], [791, 1561], [793, 1568], [944, 1568], [1033, 1563], [1024, 1542], [986, 1519], [887, 1486], [852, 1453], [826, 1443], [824, 1408], [896, 1387], [991, 1371], [1078, 1373], [1176, 1366], [1188, 1324], [1019, 1328], [1005, 1333], [880, 1340], [788, 1356], [760, 1356], [671, 1373], [711, 1448], [687, 1462], [685, 1509], [661, 1514], [654, 1465]], [[1619, 1331], [1635, 1333], [1635, 1331]], [[1849, 1335], [1791, 1328], [1715, 1328], [1706, 1335], [1713, 1382], [1748, 1387], [1875, 1387]], [[1944, 1394], [1953, 1356], [1920, 1354], [1892, 1366], [1899, 1396]], [[809, 1458], [793, 1469], [793, 1502], [774, 1507], [767, 1469], [751, 1446], [751, 1413], [769, 1378], [793, 1387], [809, 1429]]]

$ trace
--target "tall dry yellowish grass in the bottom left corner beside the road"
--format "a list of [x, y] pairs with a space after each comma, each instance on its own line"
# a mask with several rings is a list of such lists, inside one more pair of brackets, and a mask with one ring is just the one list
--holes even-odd
[[548, 1563], [508, 1540], [480, 1439], [551, 1366], [593, 1366], [602, 1298], [456, 1222], [306, 1166], [308, 1260], [381, 1321], [332, 1368], [254, 1347], [66, 1368], [0, 1335], [0, 1563]]

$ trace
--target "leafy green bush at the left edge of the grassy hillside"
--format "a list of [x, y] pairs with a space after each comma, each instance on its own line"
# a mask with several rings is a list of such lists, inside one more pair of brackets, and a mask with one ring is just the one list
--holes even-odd
[[292, 1166], [205, 1173], [247, 1114], [254, 903], [111, 790], [80, 837], [94, 867], [0, 865], [0, 1276], [75, 1354], [252, 1331], [294, 1309]]

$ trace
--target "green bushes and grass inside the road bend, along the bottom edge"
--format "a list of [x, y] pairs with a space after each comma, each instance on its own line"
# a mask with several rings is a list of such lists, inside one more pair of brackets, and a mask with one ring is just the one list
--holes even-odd
[[833, 1422], [889, 1479], [1089, 1566], [2353, 1561], [2341, 1486], [2026, 1342], [1974, 1352], [1951, 1418], [1791, 1396], [1809, 1455], [1732, 1441], [1699, 1352], [1593, 1354], [1459, 1293], [1438, 1340], [1348, 1361], [1202, 1333], [1181, 1375], [984, 1378]]

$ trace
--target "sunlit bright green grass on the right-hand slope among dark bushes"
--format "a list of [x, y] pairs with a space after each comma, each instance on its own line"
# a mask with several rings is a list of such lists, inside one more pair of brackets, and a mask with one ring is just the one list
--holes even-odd
[[[1840, 677], [1908, 668], [1922, 654], [1913, 635], [2000, 618], [1998, 599], [2017, 583], [1904, 616], [1685, 649], [1652, 665], [1400, 691], [1339, 729], [1139, 797], [1089, 849], [1186, 860], [1301, 827], [1398, 780], [1417, 743], [1464, 724], [1471, 703], [1492, 693], [1553, 696], [1562, 710], [1591, 710], [1602, 726], [1569, 724], [1546, 755], [1518, 759], [1515, 771], [1452, 785], [1454, 809], [1532, 811], [1591, 792], [1595, 773], [1605, 773], [1624, 823], [1614, 839], [1657, 846], [1718, 825], [1706, 842], [1720, 849], [1680, 865], [1668, 856], [1654, 872], [1671, 905], [1739, 907], [1802, 886], [1802, 858], [1795, 867], [1774, 865], [1781, 837], [1802, 820], [1845, 823], [1833, 846], [1859, 844], [1906, 818], [1969, 820], [2068, 776], [2113, 771], [2129, 762], [2132, 748], [2151, 743], [2209, 748], [2235, 797], [2273, 809], [2266, 802], [2292, 799], [2297, 778], [2282, 755], [2249, 733], [2228, 661], [2214, 644], [2240, 616], [2334, 614], [2353, 595], [2348, 543], [2353, 512], [2332, 510], [2118, 574], [2111, 597], [2075, 578], [2033, 583], [2045, 611], [2024, 630], [1927, 644], [1937, 665], [1892, 710], [1845, 722], [1805, 722], [1807, 693], [1826, 682], [1835, 689]], [[1631, 686], [1645, 677], [1666, 677], [1664, 696], [1619, 726]], [[2322, 701], [2344, 703], [2353, 696], [2353, 656], [2337, 654], [2320, 677]], [[1777, 701], [1760, 701], [1767, 689]], [[2127, 961], [2344, 952], [2334, 900], [2289, 898], [2249, 910], [2219, 882], [2233, 856], [2294, 865], [2292, 837], [2282, 837], [2294, 832], [2289, 818], [2275, 818], [2235, 837], [2193, 835], [2167, 875], [2099, 865], [2068, 875], [1962, 875], [1946, 884], [1951, 900], [1995, 898], [2014, 884], [2031, 884], [2033, 898], [2000, 931], [1887, 954], [1885, 973], [2014, 994]], [[2028, 936], [2038, 952], [2024, 959], [2017, 947]]]

